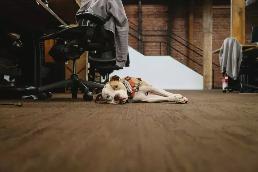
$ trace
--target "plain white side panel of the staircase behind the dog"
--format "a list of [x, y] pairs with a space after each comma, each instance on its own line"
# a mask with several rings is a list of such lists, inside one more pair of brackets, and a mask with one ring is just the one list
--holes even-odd
[[130, 67], [114, 71], [120, 77], [141, 77], [150, 85], [166, 90], [202, 90], [203, 76], [171, 56], [145, 56], [128, 47]]

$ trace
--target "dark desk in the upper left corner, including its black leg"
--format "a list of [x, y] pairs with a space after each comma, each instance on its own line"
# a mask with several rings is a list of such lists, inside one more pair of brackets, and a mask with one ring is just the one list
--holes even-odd
[[15, 80], [20, 85], [41, 86], [40, 46], [34, 40], [67, 24], [41, 0], [1, 1], [0, 19], [1, 25], [5, 26], [1, 29], [19, 34], [23, 42], [23, 59], [19, 61], [22, 72]]

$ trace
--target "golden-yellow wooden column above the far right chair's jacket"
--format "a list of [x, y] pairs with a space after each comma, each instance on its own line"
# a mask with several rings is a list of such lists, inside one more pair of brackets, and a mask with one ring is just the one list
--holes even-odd
[[230, 35], [245, 44], [245, 1], [231, 0]]

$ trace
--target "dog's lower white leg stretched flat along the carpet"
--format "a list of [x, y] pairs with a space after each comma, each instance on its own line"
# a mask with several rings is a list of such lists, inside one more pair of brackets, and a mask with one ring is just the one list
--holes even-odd
[[158, 102], [176, 102], [176, 103], [186, 103], [186, 99], [181, 95], [163, 97], [163, 96], [146, 96], [143, 93], [134, 96], [134, 102], [148, 102], [148, 103], [158, 103]]

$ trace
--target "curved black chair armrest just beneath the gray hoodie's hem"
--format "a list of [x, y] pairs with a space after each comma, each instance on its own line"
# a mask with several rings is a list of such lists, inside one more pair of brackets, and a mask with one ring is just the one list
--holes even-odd
[[78, 21], [79, 19], [89, 20], [99, 26], [103, 26], [106, 23], [106, 20], [103, 17], [85, 11], [77, 13], [76, 20]]

